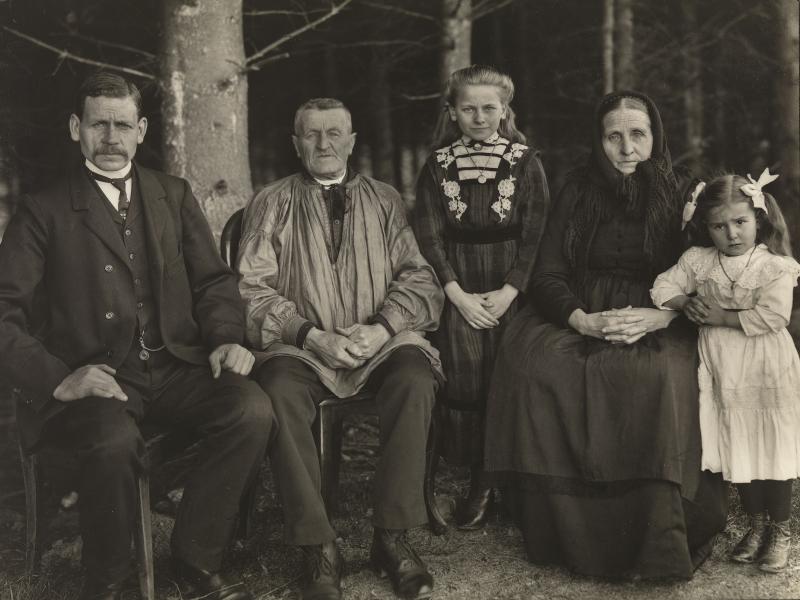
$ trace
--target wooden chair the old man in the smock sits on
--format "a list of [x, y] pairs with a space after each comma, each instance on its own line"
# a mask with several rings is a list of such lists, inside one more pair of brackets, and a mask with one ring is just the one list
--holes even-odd
[[[233, 213], [222, 229], [220, 236], [220, 254], [231, 267], [236, 264], [239, 253], [239, 240], [242, 237], [243, 210]], [[437, 407], [438, 408], [438, 407]], [[322, 478], [322, 499], [329, 515], [338, 507], [339, 468], [342, 456], [342, 424], [349, 415], [375, 415], [377, 407], [375, 396], [362, 392], [348, 398], [331, 396], [319, 404], [317, 422], [315, 423], [319, 466]], [[438, 410], [435, 408], [431, 429], [428, 433], [425, 461], [424, 497], [431, 530], [437, 535], [444, 533], [447, 523], [436, 504], [435, 477], [438, 466]]]

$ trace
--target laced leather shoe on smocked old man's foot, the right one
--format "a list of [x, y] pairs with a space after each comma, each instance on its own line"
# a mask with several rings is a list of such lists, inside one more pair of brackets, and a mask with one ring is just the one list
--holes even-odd
[[376, 527], [369, 556], [378, 575], [389, 576], [395, 594], [401, 598], [430, 598], [433, 576], [414, 552], [405, 530]]

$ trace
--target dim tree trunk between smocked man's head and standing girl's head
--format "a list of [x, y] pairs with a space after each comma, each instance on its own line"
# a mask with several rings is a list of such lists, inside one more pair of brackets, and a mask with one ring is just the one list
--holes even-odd
[[391, 88], [385, 59], [384, 53], [376, 49], [369, 66], [372, 172], [375, 179], [395, 185]]

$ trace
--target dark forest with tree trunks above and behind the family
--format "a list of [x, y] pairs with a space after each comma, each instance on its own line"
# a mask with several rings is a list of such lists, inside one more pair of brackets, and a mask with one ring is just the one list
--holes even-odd
[[477, 62], [514, 79], [553, 192], [588, 151], [597, 98], [634, 88], [675, 164], [780, 173], [800, 239], [797, 0], [0, 0], [0, 18], [0, 231], [78, 160], [67, 121], [98, 67], [143, 89], [137, 159], [188, 178], [219, 232], [297, 170], [293, 113], [316, 96], [351, 108], [355, 168], [413, 203], [444, 78]]

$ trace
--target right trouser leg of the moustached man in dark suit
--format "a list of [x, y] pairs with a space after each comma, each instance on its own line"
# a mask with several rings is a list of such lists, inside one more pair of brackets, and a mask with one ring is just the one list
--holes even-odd
[[208, 367], [182, 366], [154, 383], [148, 419], [194, 431], [200, 439], [175, 519], [172, 554], [218, 571], [243, 492], [277, 429], [269, 398], [241, 375], [223, 371], [213, 379]]

